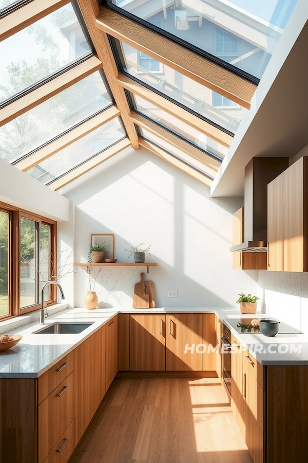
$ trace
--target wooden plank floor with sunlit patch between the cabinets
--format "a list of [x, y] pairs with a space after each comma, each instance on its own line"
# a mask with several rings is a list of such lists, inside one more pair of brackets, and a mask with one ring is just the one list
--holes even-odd
[[218, 379], [115, 379], [70, 463], [252, 463]]

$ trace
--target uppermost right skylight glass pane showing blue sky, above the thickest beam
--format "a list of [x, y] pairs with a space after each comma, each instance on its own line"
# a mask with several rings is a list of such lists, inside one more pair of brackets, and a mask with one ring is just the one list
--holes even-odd
[[[108, 0], [188, 44], [261, 78], [297, 0]], [[166, 19], [164, 19], [164, 16]]]

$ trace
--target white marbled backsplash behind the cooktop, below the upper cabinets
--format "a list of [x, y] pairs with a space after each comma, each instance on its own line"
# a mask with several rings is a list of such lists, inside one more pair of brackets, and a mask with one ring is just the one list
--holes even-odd
[[258, 272], [262, 311], [308, 332], [308, 274], [300, 272]]

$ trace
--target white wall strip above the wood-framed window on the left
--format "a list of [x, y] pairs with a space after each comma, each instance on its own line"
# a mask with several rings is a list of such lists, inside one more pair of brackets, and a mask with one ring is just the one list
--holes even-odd
[[0, 159], [0, 201], [57, 221], [68, 221], [69, 201]]

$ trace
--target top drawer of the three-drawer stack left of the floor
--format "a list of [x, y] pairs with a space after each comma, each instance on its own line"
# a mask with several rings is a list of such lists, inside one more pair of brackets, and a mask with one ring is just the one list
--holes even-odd
[[52, 391], [67, 378], [74, 369], [74, 351], [49, 368], [38, 378], [37, 404], [43, 402]]

